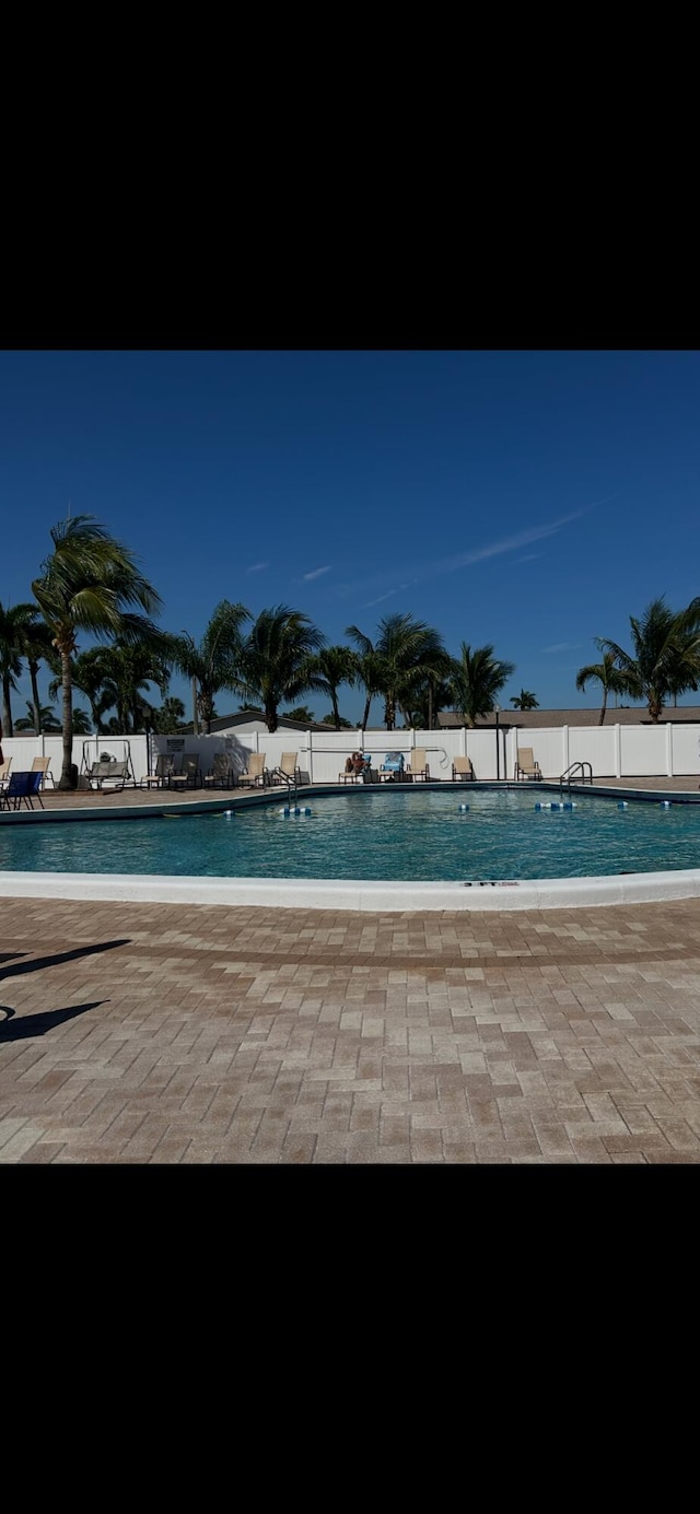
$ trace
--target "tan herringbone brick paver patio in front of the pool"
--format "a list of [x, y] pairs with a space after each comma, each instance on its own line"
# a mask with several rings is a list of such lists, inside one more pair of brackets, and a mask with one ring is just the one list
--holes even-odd
[[700, 901], [0, 908], [0, 1161], [700, 1160]]

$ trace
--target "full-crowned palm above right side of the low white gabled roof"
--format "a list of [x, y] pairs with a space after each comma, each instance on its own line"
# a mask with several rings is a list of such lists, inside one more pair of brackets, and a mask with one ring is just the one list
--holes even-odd
[[238, 692], [261, 699], [268, 731], [277, 730], [280, 704], [305, 693], [326, 693], [326, 683], [315, 669], [317, 653], [324, 645], [308, 615], [279, 604], [262, 610], [242, 643]]

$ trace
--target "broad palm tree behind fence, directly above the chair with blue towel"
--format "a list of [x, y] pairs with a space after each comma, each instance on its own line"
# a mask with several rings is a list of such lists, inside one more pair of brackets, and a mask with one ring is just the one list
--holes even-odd
[[429, 675], [439, 680], [450, 659], [439, 631], [412, 615], [386, 615], [377, 630], [374, 645], [356, 625], [348, 625], [345, 636], [352, 636], [359, 648], [368, 701], [371, 693], [383, 695], [383, 719], [386, 730], [392, 731], [397, 710], [414, 702]]

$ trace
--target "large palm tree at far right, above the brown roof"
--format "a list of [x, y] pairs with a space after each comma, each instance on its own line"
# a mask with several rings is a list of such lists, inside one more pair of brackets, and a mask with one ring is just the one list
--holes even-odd
[[673, 695], [697, 689], [700, 681], [700, 598], [685, 610], [668, 609], [664, 595], [652, 600], [638, 619], [630, 615], [633, 656], [597, 636], [595, 645], [611, 653], [633, 699], [645, 699], [652, 721], [659, 719]]

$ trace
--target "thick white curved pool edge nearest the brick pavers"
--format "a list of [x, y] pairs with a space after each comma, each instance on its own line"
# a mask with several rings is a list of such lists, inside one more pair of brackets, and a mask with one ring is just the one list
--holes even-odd
[[570, 910], [700, 896], [700, 869], [503, 883], [338, 878], [168, 878], [147, 874], [0, 872], [0, 898], [124, 904], [259, 905], [276, 910]]

